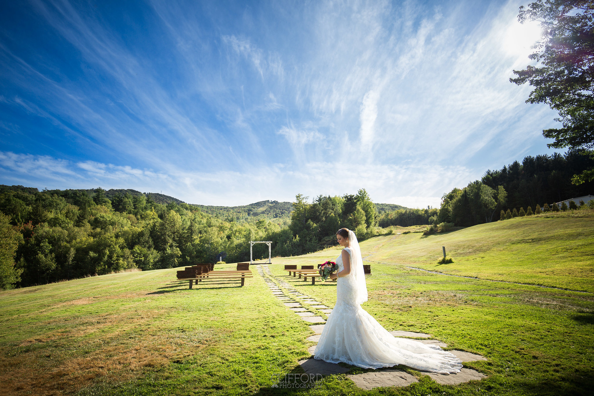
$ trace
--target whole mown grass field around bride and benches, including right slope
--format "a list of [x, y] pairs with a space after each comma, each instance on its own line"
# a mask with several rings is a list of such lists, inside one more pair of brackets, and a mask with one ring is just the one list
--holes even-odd
[[[528, 241], [544, 230], [553, 235], [543, 235], [542, 243], [517, 243], [509, 236], [515, 233]], [[560, 235], [574, 239], [561, 243]], [[312, 334], [308, 324], [271, 295], [256, 271], [244, 287], [238, 281], [220, 281], [189, 290], [187, 283], [175, 280], [172, 269], [0, 292], [0, 394], [592, 394], [594, 294], [486, 280], [497, 275], [501, 280], [589, 290], [588, 238], [591, 217], [565, 216], [362, 242], [364, 255], [372, 254], [368, 259], [384, 263], [374, 262], [367, 278], [366, 311], [387, 330], [426, 332], [448, 348], [488, 357], [486, 362], [465, 364], [489, 376], [482, 381], [443, 386], [409, 369], [419, 382], [406, 388], [368, 392], [337, 375], [309, 391], [279, 391], [271, 388], [271, 375], [302, 372], [297, 362], [309, 356], [307, 347], [313, 344], [306, 340]], [[456, 262], [435, 267], [444, 239]], [[556, 247], [550, 248], [551, 243]], [[554, 254], [556, 259], [547, 264], [553, 275], [542, 274], [532, 256], [518, 254], [526, 244], [532, 246], [526, 252], [533, 257]], [[487, 252], [500, 257], [500, 264], [472, 260], [487, 257]], [[337, 255], [339, 249], [327, 249], [274, 259], [269, 267], [296, 289], [333, 306], [336, 283], [311, 285], [288, 277], [282, 269], [285, 264], [317, 264]], [[505, 262], [511, 263], [509, 271]], [[405, 267], [411, 264], [483, 279]], [[226, 267], [233, 265], [216, 269]], [[572, 281], [571, 274], [581, 275]]]

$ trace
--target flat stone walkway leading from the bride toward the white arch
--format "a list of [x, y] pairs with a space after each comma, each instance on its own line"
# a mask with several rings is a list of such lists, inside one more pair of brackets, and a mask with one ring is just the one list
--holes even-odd
[[[272, 292], [273, 296], [277, 297], [283, 304], [295, 312], [296, 315], [300, 316], [305, 322], [311, 323], [309, 328], [315, 332], [307, 338], [308, 341], [317, 343], [320, 340], [320, 334], [324, 330], [324, 324], [326, 323], [327, 315], [332, 312], [332, 309], [320, 302], [315, 301], [305, 294], [299, 293], [289, 283], [279, 277], [273, 277], [270, 273], [270, 269], [266, 264], [257, 265], [258, 274], [264, 279], [268, 288]], [[412, 332], [412, 331], [390, 331], [390, 334], [394, 337], [405, 337], [405, 338], [425, 338], [425, 340], [417, 340], [424, 344], [432, 344], [439, 347], [447, 347], [447, 344], [442, 343], [439, 340], [429, 340], [430, 334]], [[317, 345], [308, 348], [309, 353], [313, 354]], [[450, 350], [451, 353], [456, 355], [462, 362], [472, 362], [473, 360], [487, 360], [484, 356], [473, 354], [466, 351]], [[300, 360], [299, 365], [304, 369], [307, 374], [321, 374], [331, 375], [347, 373], [350, 368], [344, 368], [334, 363], [324, 362], [324, 360], [309, 359]], [[425, 375], [430, 376], [435, 382], [443, 385], [456, 385], [462, 384], [462, 382], [468, 382], [472, 380], [480, 380], [485, 378], [486, 375], [473, 369], [462, 368], [459, 373], [442, 375], [431, 372], [422, 372]], [[378, 369], [372, 372], [366, 372], [362, 374], [348, 375], [355, 384], [366, 390], [371, 390], [376, 387], [407, 387], [414, 382], [419, 380], [404, 370], [400, 369]]]

